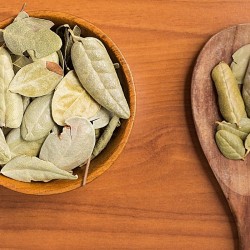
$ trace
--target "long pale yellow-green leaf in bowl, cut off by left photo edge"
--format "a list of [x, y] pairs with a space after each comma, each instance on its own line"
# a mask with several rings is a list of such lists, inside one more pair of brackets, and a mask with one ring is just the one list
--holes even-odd
[[22, 97], [11, 93], [8, 88], [14, 77], [9, 53], [0, 48], [0, 126], [17, 128], [23, 117]]

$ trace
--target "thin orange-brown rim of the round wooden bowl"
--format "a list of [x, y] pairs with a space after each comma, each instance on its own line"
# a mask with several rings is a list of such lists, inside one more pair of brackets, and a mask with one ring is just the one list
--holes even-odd
[[[28, 14], [32, 17], [37, 18], [51, 18], [51, 19], [65, 19], [66, 21], [70, 20], [73, 23], [78, 24], [80, 27], [85, 27], [88, 30], [93, 31], [95, 35], [104, 43], [105, 47], [110, 49], [112, 53], [115, 55], [116, 59], [119, 61], [121, 68], [123, 70], [124, 79], [127, 83], [128, 88], [128, 98], [129, 98], [129, 106], [130, 106], [130, 118], [126, 120], [125, 128], [124, 128], [124, 136], [121, 139], [121, 142], [117, 146], [117, 148], [111, 152], [109, 157], [105, 160], [106, 164], [102, 164], [102, 168], [96, 169], [93, 173], [90, 173], [87, 178], [87, 183], [92, 182], [94, 179], [99, 177], [103, 174], [110, 166], [114, 163], [114, 161], [119, 157], [122, 150], [124, 149], [129, 135], [131, 133], [134, 119], [135, 119], [135, 112], [136, 112], [136, 94], [135, 94], [135, 85], [134, 79], [129, 68], [128, 63], [126, 62], [123, 54], [121, 53], [118, 46], [98, 27], [94, 24], [90, 23], [89, 21], [82, 19], [80, 17], [74, 16], [72, 14], [64, 13], [64, 12], [56, 12], [56, 11], [28, 11]], [[9, 17], [5, 20], [0, 21], [0, 28], [6, 27], [10, 24], [15, 16]], [[84, 170], [84, 169], [83, 169]], [[81, 170], [81, 172], [83, 171]], [[80, 172], [80, 173], [81, 173]], [[56, 185], [53, 185], [55, 184]], [[59, 194], [64, 193], [67, 191], [74, 190], [83, 186], [82, 176], [78, 178], [76, 181], [66, 181], [66, 180], [56, 180], [47, 183], [41, 182], [31, 182], [31, 183], [24, 183], [16, 180], [12, 180], [8, 177], [0, 175], [0, 185], [11, 189], [13, 191], [17, 191], [19, 193], [24, 194], [34, 194], [34, 195], [49, 195], [49, 194]], [[55, 188], [54, 188], [55, 186]]]

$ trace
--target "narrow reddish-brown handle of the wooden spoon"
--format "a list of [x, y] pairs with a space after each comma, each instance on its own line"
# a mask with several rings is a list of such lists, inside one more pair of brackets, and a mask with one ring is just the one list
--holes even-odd
[[241, 250], [250, 250], [250, 196], [230, 193], [229, 204], [236, 218]]

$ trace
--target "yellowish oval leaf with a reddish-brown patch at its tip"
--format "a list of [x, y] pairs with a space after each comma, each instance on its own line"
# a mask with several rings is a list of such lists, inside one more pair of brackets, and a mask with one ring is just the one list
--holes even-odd
[[60, 82], [61, 74], [62, 69], [58, 64], [37, 61], [24, 66], [17, 72], [9, 90], [28, 97], [47, 95]]

